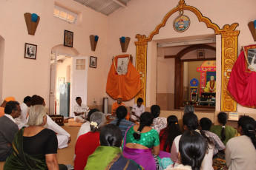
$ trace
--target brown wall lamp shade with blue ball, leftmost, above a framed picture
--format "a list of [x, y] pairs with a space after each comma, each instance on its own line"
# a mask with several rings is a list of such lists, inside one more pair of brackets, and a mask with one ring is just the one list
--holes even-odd
[[29, 35], [35, 35], [36, 28], [40, 21], [40, 16], [37, 16], [36, 13], [24, 13], [24, 18], [27, 25], [27, 33]]

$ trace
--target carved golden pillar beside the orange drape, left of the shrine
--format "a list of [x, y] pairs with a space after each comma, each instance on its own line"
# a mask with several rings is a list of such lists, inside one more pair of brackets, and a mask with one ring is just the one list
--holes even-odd
[[140, 84], [141, 90], [135, 97], [135, 103], [137, 103], [138, 98], [143, 99], [145, 105], [145, 93], [146, 93], [146, 77], [147, 77], [147, 47], [148, 41], [145, 40], [145, 35], [136, 35], [138, 39], [135, 42], [136, 45], [136, 68], [140, 72]]

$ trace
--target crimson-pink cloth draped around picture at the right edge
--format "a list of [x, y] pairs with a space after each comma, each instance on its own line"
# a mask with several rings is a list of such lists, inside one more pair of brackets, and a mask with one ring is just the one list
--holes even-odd
[[244, 51], [232, 68], [228, 90], [237, 103], [256, 108], [256, 72], [248, 69]]

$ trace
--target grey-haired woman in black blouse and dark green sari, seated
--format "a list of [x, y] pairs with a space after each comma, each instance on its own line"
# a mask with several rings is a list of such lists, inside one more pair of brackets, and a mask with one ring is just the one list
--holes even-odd
[[45, 107], [30, 107], [28, 127], [17, 132], [13, 153], [7, 157], [4, 169], [67, 169], [56, 157], [58, 140], [55, 132], [45, 129]]

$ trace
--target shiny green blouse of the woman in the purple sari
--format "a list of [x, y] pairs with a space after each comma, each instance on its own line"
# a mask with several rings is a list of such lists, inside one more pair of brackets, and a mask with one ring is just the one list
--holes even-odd
[[148, 148], [160, 145], [159, 135], [155, 129], [151, 129], [149, 132], [140, 133], [140, 140], [134, 139], [134, 132], [134, 126], [131, 126], [126, 134], [126, 143], [137, 143]]

